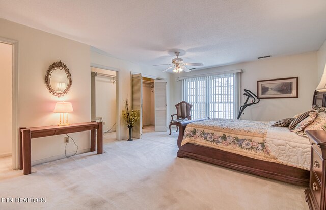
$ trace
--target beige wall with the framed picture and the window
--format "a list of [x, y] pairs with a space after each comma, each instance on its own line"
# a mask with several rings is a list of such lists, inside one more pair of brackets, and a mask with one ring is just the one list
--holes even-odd
[[[311, 107], [314, 89], [317, 87], [317, 52], [308, 52], [284, 57], [271, 57], [253, 62], [239, 63], [217, 67], [209, 70], [198, 70], [183, 73], [180, 76], [212, 73], [242, 69], [241, 74], [241, 104], [246, 99], [243, 89], [257, 92], [257, 80], [285, 78], [298, 76], [298, 98], [261, 99], [260, 103], [247, 107], [241, 119], [247, 120], [280, 120], [306, 111]], [[177, 74], [173, 75], [172, 104], [177, 104], [181, 98], [181, 81], [177, 81]], [[174, 110], [172, 110], [174, 111]]]

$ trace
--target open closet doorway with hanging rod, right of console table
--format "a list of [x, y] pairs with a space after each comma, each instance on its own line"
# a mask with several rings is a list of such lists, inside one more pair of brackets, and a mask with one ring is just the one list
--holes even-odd
[[104, 141], [117, 139], [117, 72], [91, 67], [91, 120], [103, 123]]

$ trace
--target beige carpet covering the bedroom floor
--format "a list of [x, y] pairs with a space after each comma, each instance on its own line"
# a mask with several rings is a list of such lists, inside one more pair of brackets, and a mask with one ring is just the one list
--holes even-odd
[[303, 187], [176, 158], [177, 133], [145, 129], [132, 142], [111, 136], [101, 155], [36, 165], [27, 176], [0, 160], [0, 197], [46, 198], [0, 209], [308, 209]]

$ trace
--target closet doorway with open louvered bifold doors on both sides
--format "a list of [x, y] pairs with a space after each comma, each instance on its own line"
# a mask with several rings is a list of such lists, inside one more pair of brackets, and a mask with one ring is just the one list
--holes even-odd
[[140, 111], [132, 137], [141, 139], [146, 131], [167, 131], [167, 98], [165, 80], [131, 74], [131, 109]]

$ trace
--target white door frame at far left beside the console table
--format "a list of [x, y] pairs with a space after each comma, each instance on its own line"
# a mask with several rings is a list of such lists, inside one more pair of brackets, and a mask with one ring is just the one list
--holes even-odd
[[18, 133], [18, 50], [19, 42], [0, 37], [0, 42], [12, 45], [12, 168], [19, 169], [19, 133]]

